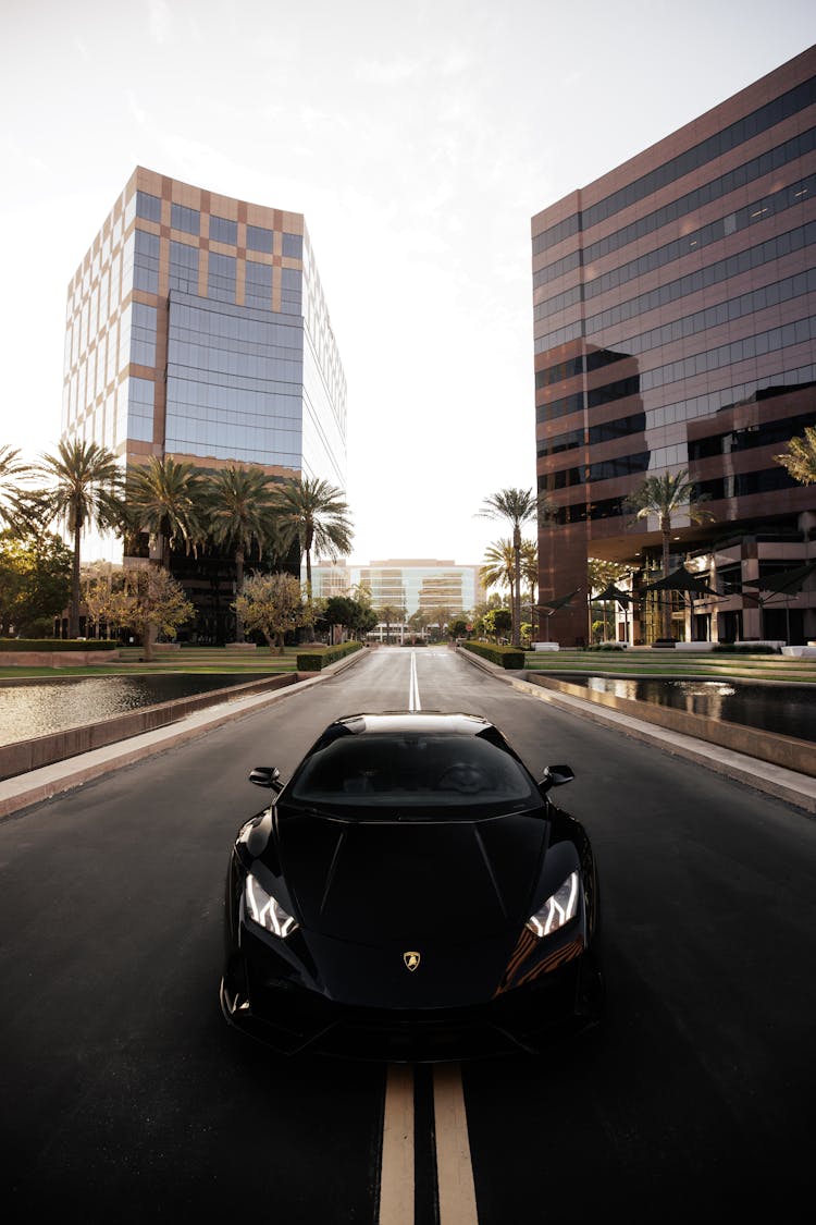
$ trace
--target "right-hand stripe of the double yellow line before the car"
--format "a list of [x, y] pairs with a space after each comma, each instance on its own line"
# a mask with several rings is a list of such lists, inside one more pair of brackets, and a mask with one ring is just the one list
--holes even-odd
[[434, 1066], [433, 1112], [437, 1136], [439, 1225], [478, 1225], [465, 1091], [459, 1065]]

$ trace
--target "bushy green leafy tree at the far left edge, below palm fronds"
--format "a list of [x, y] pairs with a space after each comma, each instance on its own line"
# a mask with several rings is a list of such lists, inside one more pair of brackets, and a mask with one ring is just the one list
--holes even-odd
[[0, 635], [48, 637], [71, 598], [71, 550], [53, 532], [0, 535]]

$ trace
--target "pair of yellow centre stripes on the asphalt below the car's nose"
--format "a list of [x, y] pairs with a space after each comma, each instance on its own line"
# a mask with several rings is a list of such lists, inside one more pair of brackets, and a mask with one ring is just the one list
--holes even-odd
[[[433, 1067], [439, 1225], [478, 1225], [467, 1115], [458, 1063]], [[389, 1065], [383, 1111], [378, 1225], [414, 1225], [414, 1069]]]

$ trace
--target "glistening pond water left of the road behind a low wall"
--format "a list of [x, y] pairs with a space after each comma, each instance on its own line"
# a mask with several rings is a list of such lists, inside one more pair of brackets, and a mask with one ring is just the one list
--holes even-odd
[[0, 745], [97, 723], [157, 702], [262, 680], [265, 674], [82, 676], [0, 685]]

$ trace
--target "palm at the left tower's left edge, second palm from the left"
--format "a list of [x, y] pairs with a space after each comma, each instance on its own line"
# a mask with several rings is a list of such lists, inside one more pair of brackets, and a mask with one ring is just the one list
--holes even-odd
[[64, 518], [73, 535], [69, 637], [80, 633], [80, 545], [89, 526], [115, 528], [121, 514], [122, 474], [116, 456], [97, 442], [62, 441], [44, 454], [35, 473], [49, 481], [32, 496], [48, 522]]

